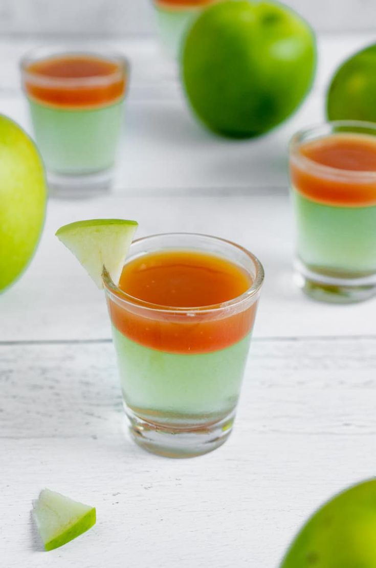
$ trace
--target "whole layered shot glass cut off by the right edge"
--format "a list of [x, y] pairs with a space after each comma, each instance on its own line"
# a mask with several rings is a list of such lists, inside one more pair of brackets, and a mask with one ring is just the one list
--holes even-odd
[[376, 293], [376, 124], [338, 121], [295, 134], [290, 178], [295, 279], [327, 302]]

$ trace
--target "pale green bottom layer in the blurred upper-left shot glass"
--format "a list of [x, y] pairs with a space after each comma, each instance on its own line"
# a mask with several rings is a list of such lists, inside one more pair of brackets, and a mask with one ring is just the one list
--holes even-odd
[[29, 102], [36, 143], [50, 172], [95, 173], [114, 165], [123, 101], [92, 110], [66, 110]]

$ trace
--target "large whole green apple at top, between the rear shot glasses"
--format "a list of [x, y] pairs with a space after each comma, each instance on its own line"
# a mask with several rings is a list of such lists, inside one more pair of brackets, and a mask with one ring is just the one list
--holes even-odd
[[261, 135], [290, 116], [310, 90], [315, 68], [310, 26], [274, 2], [208, 7], [182, 49], [190, 106], [206, 126], [231, 137]]

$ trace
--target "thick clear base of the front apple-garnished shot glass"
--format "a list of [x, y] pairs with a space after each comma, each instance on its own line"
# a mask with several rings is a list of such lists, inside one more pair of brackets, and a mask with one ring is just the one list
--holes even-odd
[[144, 450], [169, 458], [192, 458], [212, 452], [222, 446], [232, 431], [235, 412], [219, 422], [197, 428], [171, 428], [147, 422], [129, 408], [129, 432]]

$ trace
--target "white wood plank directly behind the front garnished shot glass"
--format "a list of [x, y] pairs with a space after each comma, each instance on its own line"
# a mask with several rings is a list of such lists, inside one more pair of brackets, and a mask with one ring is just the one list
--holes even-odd
[[376, 299], [335, 306], [307, 299], [292, 278], [293, 230], [283, 195], [113, 197], [49, 203], [44, 235], [26, 274], [0, 296], [0, 341], [106, 339], [110, 326], [103, 294], [56, 239], [77, 219], [139, 221], [138, 236], [184, 231], [213, 234], [252, 250], [266, 279], [254, 329], [257, 337], [373, 335]]

